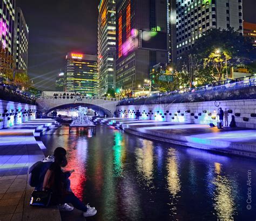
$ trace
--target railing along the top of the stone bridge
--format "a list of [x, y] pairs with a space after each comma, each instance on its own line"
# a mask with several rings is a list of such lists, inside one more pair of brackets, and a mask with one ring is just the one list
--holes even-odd
[[100, 96], [94, 96], [94, 97], [86, 97], [86, 96], [80, 96], [80, 95], [72, 95], [72, 96], [41, 96], [38, 99], [62, 99], [62, 100], [77, 100], [77, 101], [83, 101], [84, 99], [91, 99], [91, 100], [96, 100], [96, 99], [102, 99], [105, 101], [119, 101], [118, 98], [111, 98], [111, 97], [100, 97]]

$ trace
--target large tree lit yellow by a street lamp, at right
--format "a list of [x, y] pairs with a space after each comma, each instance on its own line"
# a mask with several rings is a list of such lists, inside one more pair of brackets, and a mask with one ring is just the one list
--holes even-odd
[[232, 28], [213, 28], [183, 53], [178, 61], [178, 71], [187, 75], [188, 84], [192, 86], [195, 79], [201, 83], [221, 81], [226, 68], [239, 65], [250, 67], [255, 60], [256, 50], [251, 39], [243, 37]]

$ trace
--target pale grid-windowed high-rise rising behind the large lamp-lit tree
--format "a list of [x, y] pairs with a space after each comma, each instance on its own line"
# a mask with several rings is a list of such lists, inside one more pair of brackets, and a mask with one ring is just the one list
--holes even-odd
[[233, 27], [242, 33], [242, 0], [171, 0], [170, 18], [171, 26], [176, 25], [172, 55], [177, 60], [210, 28]]

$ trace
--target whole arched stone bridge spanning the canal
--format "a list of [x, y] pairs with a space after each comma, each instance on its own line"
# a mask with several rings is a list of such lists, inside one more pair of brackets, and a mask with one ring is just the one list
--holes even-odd
[[114, 111], [116, 111], [118, 102], [119, 101], [116, 98], [85, 96], [72, 96], [72, 98], [42, 96], [37, 99], [38, 112], [42, 112], [46, 115], [56, 109], [69, 109], [85, 106], [97, 111], [100, 116], [106, 115], [107, 117], [112, 117]]

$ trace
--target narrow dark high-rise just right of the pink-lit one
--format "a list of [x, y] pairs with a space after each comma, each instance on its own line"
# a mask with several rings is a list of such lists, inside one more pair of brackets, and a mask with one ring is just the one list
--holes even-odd
[[15, 28], [14, 28], [14, 62], [19, 70], [28, 69], [28, 50], [29, 50], [29, 27], [26, 25], [22, 10], [15, 9]]

